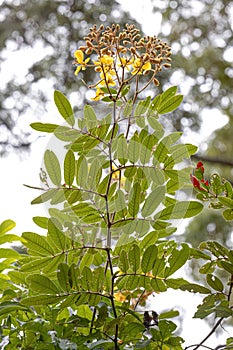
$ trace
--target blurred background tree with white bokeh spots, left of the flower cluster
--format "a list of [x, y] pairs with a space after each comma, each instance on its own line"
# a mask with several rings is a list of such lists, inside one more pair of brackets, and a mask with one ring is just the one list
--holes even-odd
[[[30, 135], [20, 122], [33, 111], [37, 117], [45, 113], [48, 87], [67, 95], [76, 92], [77, 105], [82, 104], [86, 87], [74, 79], [75, 67], [70, 67], [88, 29], [95, 23], [134, 21], [116, 1], [108, 0], [6, 0], [0, 5], [0, 153], [4, 153], [30, 146]], [[38, 56], [28, 63], [33, 52]], [[13, 66], [6, 71], [11, 57]], [[20, 73], [21, 65], [26, 70], [19, 78], [15, 72]], [[84, 73], [88, 83], [90, 70]]]

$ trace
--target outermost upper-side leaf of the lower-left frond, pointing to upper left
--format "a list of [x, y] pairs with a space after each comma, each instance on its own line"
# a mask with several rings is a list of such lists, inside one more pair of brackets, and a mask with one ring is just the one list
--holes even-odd
[[26, 240], [24, 243], [27, 248], [37, 253], [37, 255], [54, 255], [52, 247], [48, 245], [45, 237], [34, 232], [23, 232], [22, 237]]

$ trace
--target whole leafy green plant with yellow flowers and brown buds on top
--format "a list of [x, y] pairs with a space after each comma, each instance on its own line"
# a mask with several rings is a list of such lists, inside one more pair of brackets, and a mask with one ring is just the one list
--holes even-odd
[[[130, 28], [129, 37], [134, 32]], [[0, 243], [19, 239], [27, 248], [27, 254], [1, 248], [1, 346], [179, 350], [184, 340], [171, 321], [179, 312], [158, 314], [148, 309], [147, 298], [168, 288], [200, 293], [204, 297], [194, 317], [216, 317], [212, 332], [232, 319], [233, 251], [216, 241], [194, 248], [173, 235], [176, 220], [198, 215], [202, 200], [213, 208], [217, 201], [227, 208], [224, 218], [232, 219], [226, 215], [232, 209], [232, 187], [216, 175], [209, 184], [202, 163], [190, 181], [188, 160], [197, 147], [181, 143], [180, 132], [165, 134], [160, 121], [182, 101], [176, 86], [153, 99], [139, 99], [162, 68], [168, 68], [161, 64], [170, 56], [166, 44], [136, 32], [129, 50], [119, 50], [125, 40], [120, 26], [93, 27], [91, 33], [99, 40], [91, 41], [97, 61], [87, 47], [79, 48], [77, 73], [93, 68], [80, 54], [84, 50], [98, 62], [94, 66], [101, 79], [93, 88], [112, 113], [98, 115], [85, 105], [77, 118], [69, 100], [56, 90], [63, 124], [31, 124], [59, 140], [64, 154], [45, 151], [42, 193], [32, 200], [48, 208], [48, 217], [33, 218], [44, 234], [24, 232], [19, 238], [7, 233], [12, 221], [0, 226]], [[133, 80], [135, 91], [128, 88]], [[199, 200], [179, 200], [179, 191], [192, 189], [192, 184]], [[203, 284], [183, 278], [181, 268], [193, 260], [202, 262]], [[227, 284], [219, 271], [227, 275]], [[231, 343], [232, 338], [226, 339]]]

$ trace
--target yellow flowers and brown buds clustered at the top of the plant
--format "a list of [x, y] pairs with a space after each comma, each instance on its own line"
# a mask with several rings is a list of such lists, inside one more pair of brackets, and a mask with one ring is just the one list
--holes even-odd
[[[99, 28], [94, 26], [84, 40], [86, 45], [80, 46], [74, 53], [75, 74], [87, 67], [99, 74], [97, 83], [90, 86], [96, 88], [93, 100], [99, 100], [106, 94], [112, 101], [117, 100], [132, 79], [136, 78], [138, 83], [139, 76], [145, 74], [150, 74], [150, 77], [144, 88], [151, 82], [157, 86], [157, 73], [171, 66], [171, 48], [155, 36], [142, 37], [134, 25], [126, 24], [123, 30], [119, 24], [106, 29], [103, 25]], [[85, 58], [84, 53], [94, 58]], [[126, 76], [127, 73], [130, 75]], [[114, 93], [112, 87], [116, 88]]]

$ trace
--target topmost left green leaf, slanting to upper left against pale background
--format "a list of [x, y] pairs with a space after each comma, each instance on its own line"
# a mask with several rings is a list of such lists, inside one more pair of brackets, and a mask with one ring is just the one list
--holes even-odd
[[74, 126], [75, 119], [73, 109], [71, 107], [70, 102], [61, 91], [54, 91], [54, 102], [57, 106], [59, 113], [65, 119], [65, 121], [69, 125]]

